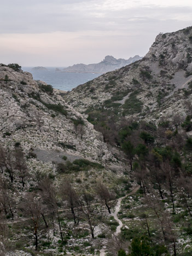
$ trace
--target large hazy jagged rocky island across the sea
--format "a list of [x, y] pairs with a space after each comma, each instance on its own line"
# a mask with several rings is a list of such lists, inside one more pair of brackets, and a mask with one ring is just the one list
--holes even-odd
[[[85, 65], [83, 63], [75, 64], [67, 68], [63, 68], [62, 72], [71, 72], [71, 73], [98, 73], [103, 74], [115, 69], [129, 65], [135, 61], [141, 60], [142, 57], [136, 55], [130, 57], [128, 60], [125, 59], [115, 59], [113, 56], [107, 55], [103, 61], [95, 64]], [[58, 70], [57, 70], [58, 71]]]

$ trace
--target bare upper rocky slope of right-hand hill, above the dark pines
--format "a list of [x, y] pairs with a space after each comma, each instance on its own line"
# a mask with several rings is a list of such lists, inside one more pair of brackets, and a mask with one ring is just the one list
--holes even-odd
[[80, 85], [65, 95], [81, 113], [93, 112], [152, 120], [185, 116], [191, 101], [192, 27], [159, 34], [149, 53], [135, 63]]

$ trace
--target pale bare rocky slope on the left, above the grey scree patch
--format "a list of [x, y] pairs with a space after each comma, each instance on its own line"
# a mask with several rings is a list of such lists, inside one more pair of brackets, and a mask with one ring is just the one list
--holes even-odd
[[[34, 81], [30, 73], [0, 67], [1, 143], [17, 141], [26, 150], [65, 148], [69, 154], [83, 158], [110, 158], [100, 134], [68, 106], [59, 90], [52, 90], [45, 83]], [[81, 130], [75, 130], [75, 120], [83, 121]]]

